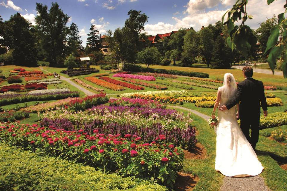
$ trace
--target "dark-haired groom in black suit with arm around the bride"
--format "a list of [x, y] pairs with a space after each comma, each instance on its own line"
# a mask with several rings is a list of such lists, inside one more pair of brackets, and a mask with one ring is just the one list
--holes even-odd
[[[242, 73], [245, 80], [237, 84], [236, 96], [228, 104], [219, 107], [219, 110], [229, 110], [240, 101], [240, 128], [255, 150], [259, 137], [260, 102], [264, 117], [268, 114], [267, 103], [262, 81], [252, 78], [252, 67], [245, 66]], [[249, 136], [249, 128], [251, 128], [251, 137]]]

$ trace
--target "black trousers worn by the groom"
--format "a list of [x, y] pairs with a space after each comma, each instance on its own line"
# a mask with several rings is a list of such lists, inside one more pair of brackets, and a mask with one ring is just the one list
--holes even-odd
[[[240, 128], [253, 148], [255, 148], [258, 142], [259, 119], [260, 119], [260, 112], [258, 115], [254, 115], [253, 113], [252, 115], [240, 116]], [[251, 137], [249, 135], [249, 129], [251, 129]]]

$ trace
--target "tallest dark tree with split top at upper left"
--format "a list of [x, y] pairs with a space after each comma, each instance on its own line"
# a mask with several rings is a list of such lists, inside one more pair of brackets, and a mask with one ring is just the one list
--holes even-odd
[[64, 14], [58, 3], [52, 3], [50, 10], [42, 3], [36, 3], [36, 28], [43, 50], [47, 55], [50, 66], [61, 66], [67, 50], [66, 36], [68, 35], [69, 16]]

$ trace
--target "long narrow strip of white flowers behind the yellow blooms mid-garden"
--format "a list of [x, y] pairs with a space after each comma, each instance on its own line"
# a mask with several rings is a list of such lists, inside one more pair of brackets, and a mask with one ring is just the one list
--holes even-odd
[[165, 91], [149, 91], [149, 92], [132, 92], [132, 93], [123, 93], [120, 94], [120, 97], [131, 97], [134, 94], [138, 94], [138, 95], [158, 95], [158, 96], [184, 96], [186, 94], [188, 94], [187, 91], [185, 90], [165, 90]]

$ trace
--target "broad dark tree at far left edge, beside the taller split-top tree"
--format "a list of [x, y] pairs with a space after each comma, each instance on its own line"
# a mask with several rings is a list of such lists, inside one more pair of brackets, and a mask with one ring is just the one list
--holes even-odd
[[3, 37], [1, 43], [9, 49], [13, 49], [12, 63], [36, 67], [35, 30], [31, 23], [25, 20], [20, 13], [16, 13], [1, 25], [1, 36]]

